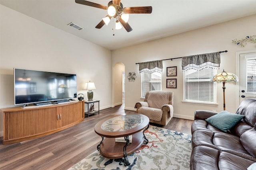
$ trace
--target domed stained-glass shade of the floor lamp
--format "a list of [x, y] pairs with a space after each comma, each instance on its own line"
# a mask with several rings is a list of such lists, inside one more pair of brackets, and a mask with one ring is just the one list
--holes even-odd
[[211, 82], [238, 82], [238, 77], [231, 72], [226, 72], [223, 70], [223, 72], [213, 76], [211, 78]]

